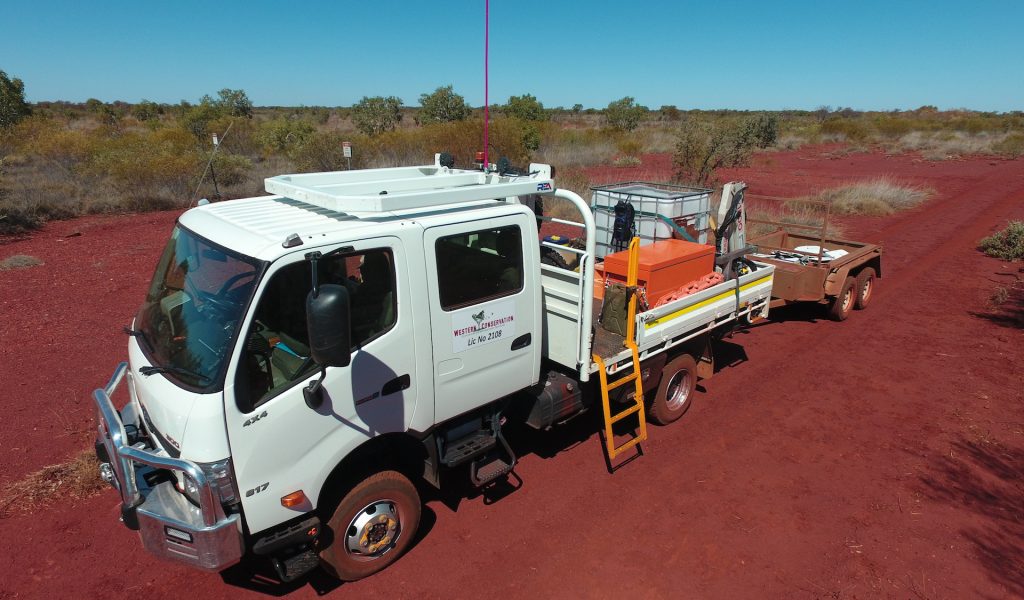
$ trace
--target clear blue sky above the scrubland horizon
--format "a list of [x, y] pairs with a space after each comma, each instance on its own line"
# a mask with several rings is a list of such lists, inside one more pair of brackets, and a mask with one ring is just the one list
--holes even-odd
[[[4, 2], [30, 100], [483, 103], [483, 0]], [[492, 0], [490, 101], [1024, 110], [1024, 2]]]

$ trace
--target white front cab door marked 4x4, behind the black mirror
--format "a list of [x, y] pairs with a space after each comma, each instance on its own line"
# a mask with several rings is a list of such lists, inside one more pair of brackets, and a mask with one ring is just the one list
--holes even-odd
[[[323, 403], [306, 404], [302, 390], [319, 369], [309, 359], [305, 330], [305, 252], [276, 261], [260, 283], [224, 389], [232, 465], [252, 532], [314, 508], [327, 475], [360, 443], [406, 431], [424, 385], [409, 256], [397, 238], [365, 240], [319, 261], [322, 283], [349, 290], [353, 347], [347, 367], [327, 370]], [[282, 506], [282, 497], [298, 490], [308, 503]]]

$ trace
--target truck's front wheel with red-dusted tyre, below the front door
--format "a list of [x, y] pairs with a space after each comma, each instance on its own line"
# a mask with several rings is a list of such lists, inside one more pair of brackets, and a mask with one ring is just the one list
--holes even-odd
[[420, 526], [420, 495], [397, 471], [381, 471], [345, 495], [328, 521], [333, 535], [321, 551], [332, 575], [354, 582], [383, 569], [409, 549]]

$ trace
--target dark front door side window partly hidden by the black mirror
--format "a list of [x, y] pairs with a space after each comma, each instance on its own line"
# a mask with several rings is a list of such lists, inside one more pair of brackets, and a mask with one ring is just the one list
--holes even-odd
[[[255, 408], [316, 371], [309, 355], [306, 296], [312, 290], [307, 261], [278, 270], [256, 307], [239, 365], [240, 403]], [[348, 289], [352, 349], [394, 327], [397, 314], [394, 258], [389, 250], [331, 256], [319, 261], [318, 281]]]

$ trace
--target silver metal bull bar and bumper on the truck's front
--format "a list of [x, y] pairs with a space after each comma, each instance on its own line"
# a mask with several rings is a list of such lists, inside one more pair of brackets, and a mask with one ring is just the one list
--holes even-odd
[[[101, 446], [103, 458], [110, 461], [100, 465], [100, 475], [121, 495], [125, 524], [137, 528], [142, 546], [161, 558], [209, 571], [236, 564], [244, 551], [241, 520], [237, 514], [224, 514], [203, 470], [191, 461], [145, 449], [141, 442], [129, 445], [124, 422], [111, 401], [127, 371], [128, 363], [122, 362], [106, 387], [92, 393], [97, 451]], [[200, 506], [188, 502], [166, 477], [162, 481], [152, 477], [161, 470], [191, 477], [199, 486]]]

